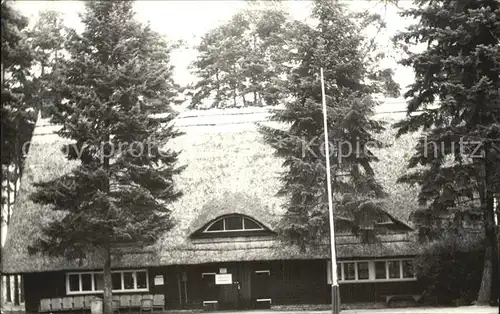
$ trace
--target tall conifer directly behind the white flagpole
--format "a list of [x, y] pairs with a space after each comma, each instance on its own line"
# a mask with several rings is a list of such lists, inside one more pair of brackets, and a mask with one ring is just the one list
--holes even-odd
[[[372, 93], [382, 92], [376, 73], [369, 70], [360, 27], [342, 5], [315, 1], [315, 26], [294, 23], [290, 38], [291, 70], [287, 79], [284, 110], [275, 110], [273, 119], [286, 129], [262, 127], [276, 154], [284, 158], [285, 171], [280, 195], [287, 202], [281, 221], [286, 240], [305, 247], [328, 238], [326, 169], [320, 68], [324, 69], [328, 108], [332, 188], [338, 202], [337, 221], [350, 230], [373, 239], [376, 222], [387, 219], [376, 200], [386, 193], [376, 181], [370, 148], [380, 145], [373, 134], [383, 130], [371, 116], [376, 102]], [[387, 76], [385, 77], [387, 78]], [[370, 82], [370, 83], [367, 83]], [[397, 86], [392, 85], [392, 86]], [[396, 90], [392, 90], [397, 93]]]

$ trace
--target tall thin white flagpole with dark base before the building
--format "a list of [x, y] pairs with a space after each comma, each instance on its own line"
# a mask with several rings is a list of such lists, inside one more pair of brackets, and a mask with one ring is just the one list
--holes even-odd
[[326, 159], [326, 186], [328, 192], [328, 213], [330, 220], [330, 252], [331, 252], [331, 275], [332, 275], [332, 314], [340, 313], [339, 282], [337, 278], [337, 256], [335, 250], [335, 224], [333, 220], [332, 180], [330, 173], [330, 145], [328, 139], [328, 119], [325, 99], [325, 81], [323, 79], [323, 68], [321, 74], [321, 100], [323, 103], [323, 125], [325, 129], [325, 159]]

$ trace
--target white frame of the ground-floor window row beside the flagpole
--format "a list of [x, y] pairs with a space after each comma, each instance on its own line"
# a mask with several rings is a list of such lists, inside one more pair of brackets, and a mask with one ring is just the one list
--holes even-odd
[[[399, 262], [399, 278], [389, 278], [389, 262], [398, 261]], [[340, 276], [337, 278], [339, 284], [344, 283], [367, 283], [367, 282], [395, 282], [395, 281], [415, 281], [417, 277], [415, 275], [415, 270], [413, 271], [413, 277], [403, 278], [403, 261], [414, 262], [412, 258], [391, 258], [391, 259], [374, 259], [374, 260], [344, 260], [337, 261], [340, 267]], [[368, 262], [368, 279], [358, 279], [358, 263]], [[375, 262], [385, 263], [385, 278], [375, 279]], [[344, 264], [354, 263], [354, 274], [355, 279], [346, 280], [344, 272]], [[331, 284], [331, 266], [330, 261], [327, 260], [327, 284]]]

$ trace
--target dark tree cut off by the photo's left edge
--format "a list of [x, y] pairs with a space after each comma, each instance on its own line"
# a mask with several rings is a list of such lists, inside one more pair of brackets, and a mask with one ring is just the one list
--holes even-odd
[[[28, 19], [8, 1], [2, 2], [1, 57], [1, 152], [2, 196], [0, 223], [9, 224], [12, 205], [17, 196], [27, 145], [34, 125], [33, 84], [30, 69], [33, 55], [27, 44]], [[11, 300], [10, 277], [6, 277], [7, 300]], [[1, 280], [0, 280], [1, 286]], [[18, 276], [14, 276], [14, 303], [19, 304]]]

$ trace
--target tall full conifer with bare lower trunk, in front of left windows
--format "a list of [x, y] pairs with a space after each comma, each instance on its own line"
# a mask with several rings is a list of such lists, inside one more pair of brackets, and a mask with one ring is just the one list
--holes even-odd
[[71, 33], [70, 56], [51, 86], [61, 99], [52, 122], [71, 141], [67, 158], [80, 164], [36, 184], [32, 195], [62, 218], [44, 227], [31, 252], [101, 256], [106, 314], [116, 247], [154, 243], [172, 227], [169, 204], [180, 196], [173, 184], [178, 154], [164, 149], [178, 135], [169, 123], [173, 113], [151, 116], [169, 110], [174, 93], [169, 47], [134, 15], [131, 1], [86, 3], [85, 30]]

